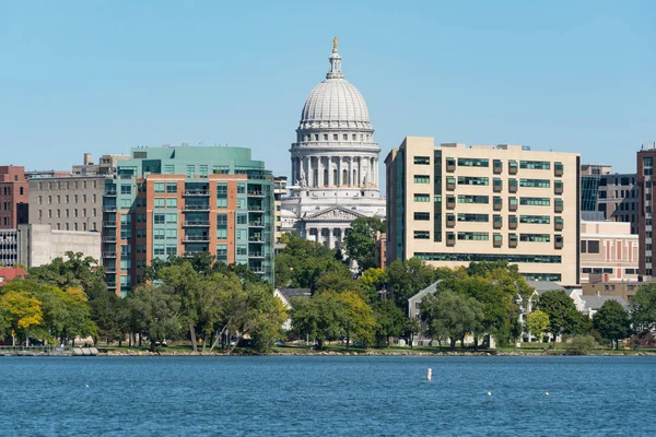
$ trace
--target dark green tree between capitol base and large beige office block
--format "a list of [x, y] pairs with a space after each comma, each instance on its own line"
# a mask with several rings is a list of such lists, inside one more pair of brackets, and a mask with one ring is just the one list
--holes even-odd
[[358, 262], [361, 272], [378, 267], [376, 262], [376, 234], [384, 233], [385, 225], [380, 218], [358, 217], [351, 222], [347, 231], [344, 244], [347, 255]]

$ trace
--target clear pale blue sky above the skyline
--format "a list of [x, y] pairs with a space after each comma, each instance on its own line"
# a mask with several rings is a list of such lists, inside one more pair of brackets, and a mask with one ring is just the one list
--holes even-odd
[[655, 19], [652, 1], [4, 1], [0, 163], [202, 142], [288, 174], [338, 36], [380, 162], [431, 135], [633, 172], [656, 141]]

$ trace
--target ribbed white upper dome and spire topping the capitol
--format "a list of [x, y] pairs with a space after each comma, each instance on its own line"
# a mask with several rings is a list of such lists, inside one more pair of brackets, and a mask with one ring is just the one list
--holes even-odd
[[301, 114], [298, 129], [354, 128], [370, 130], [368, 109], [362, 94], [344, 79], [337, 44], [332, 49], [330, 71], [309, 93]]

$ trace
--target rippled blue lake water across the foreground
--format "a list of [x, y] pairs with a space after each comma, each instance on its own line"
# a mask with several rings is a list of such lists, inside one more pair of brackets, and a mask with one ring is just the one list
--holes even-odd
[[656, 357], [0, 358], [0, 436], [654, 436], [655, 405]]

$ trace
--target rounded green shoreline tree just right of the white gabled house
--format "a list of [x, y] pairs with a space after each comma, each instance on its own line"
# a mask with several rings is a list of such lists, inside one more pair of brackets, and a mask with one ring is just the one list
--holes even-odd
[[452, 351], [458, 340], [465, 347], [468, 333], [480, 332], [483, 316], [481, 303], [450, 290], [430, 294], [422, 300], [421, 317], [429, 327], [427, 334], [441, 341], [448, 338]]

